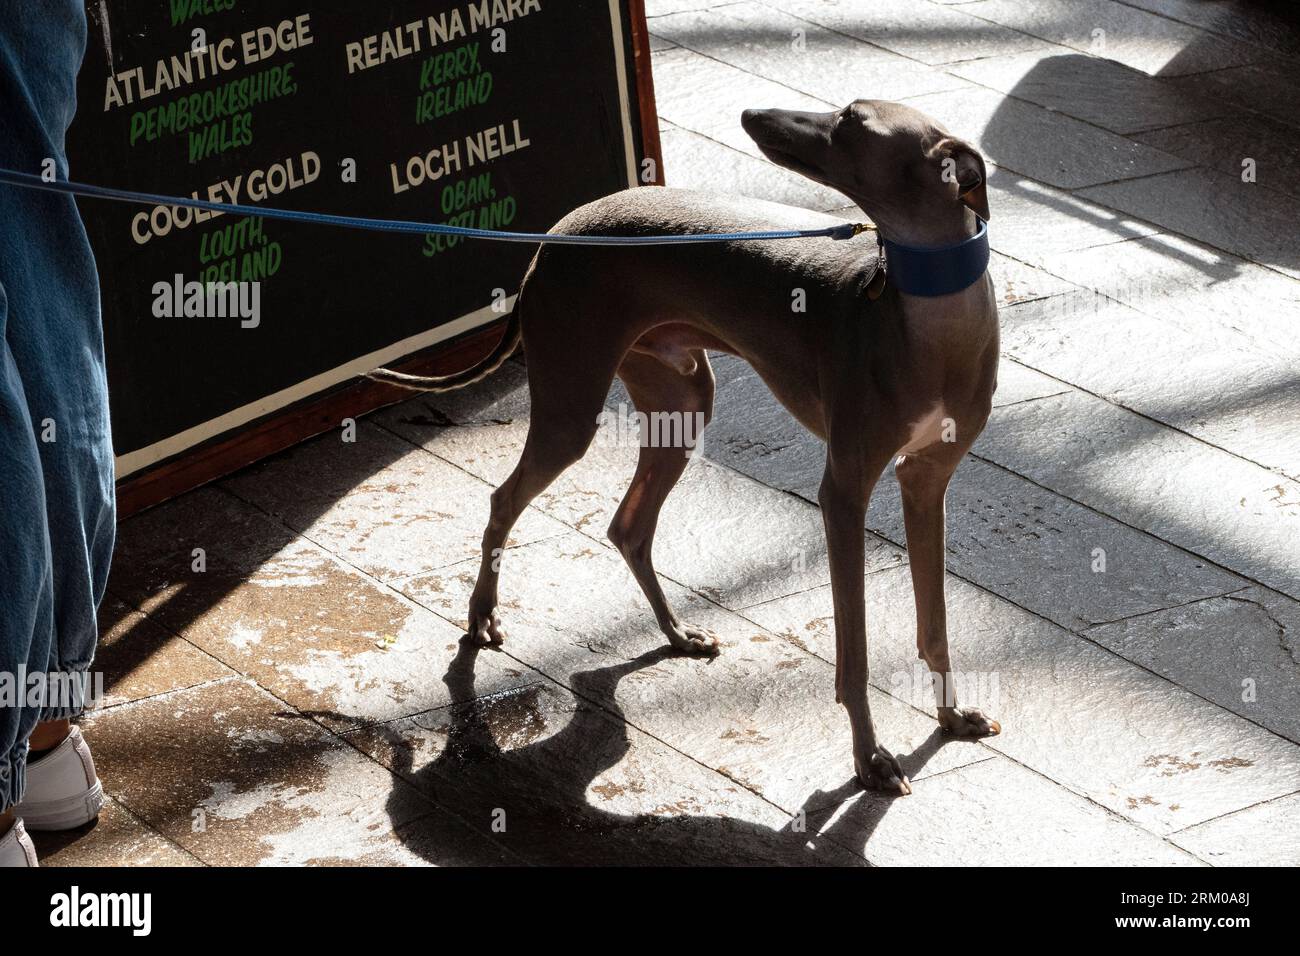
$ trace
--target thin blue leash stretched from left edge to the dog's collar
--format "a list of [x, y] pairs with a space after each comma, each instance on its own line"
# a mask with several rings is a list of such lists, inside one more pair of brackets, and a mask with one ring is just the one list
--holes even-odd
[[469, 229], [439, 222], [411, 222], [396, 219], [361, 219], [359, 216], [333, 216], [325, 212], [299, 212], [296, 209], [276, 209], [261, 206], [237, 206], [234, 203], [212, 203], [190, 196], [164, 196], [156, 193], [134, 193], [108, 186], [91, 186], [68, 179], [43, 179], [34, 173], [20, 173], [0, 166], [0, 182], [25, 189], [40, 189], [49, 193], [65, 193], [74, 196], [94, 199], [116, 199], [124, 203], [143, 206], [185, 206], [207, 212], [225, 212], [231, 216], [263, 216], [282, 219], [290, 222], [313, 222], [324, 226], [346, 226], [348, 229], [370, 229], [380, 233], [413, 233], [426, 235], [456, 235], [463, 239], [497, 239], [498, 242], [543, 242], [568, 246], [667, 246], [682, 242], [728, 242], [764, 239], [852, 239], [858, 233], [872, 229], [863, 222], [845, 222], [826, 229], [774, 229], [760, 233], [688, 233], [680, 235], [563, 235], [552, 233], [502, 233], [491, 229]]

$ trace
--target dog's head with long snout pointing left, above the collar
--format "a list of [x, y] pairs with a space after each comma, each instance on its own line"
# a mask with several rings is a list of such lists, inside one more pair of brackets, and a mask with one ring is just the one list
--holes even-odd
[[967, 209], [988, 219], [979, 151], [901, 103], [854, 100], [833, 113], [746, 109], [741, 126], [772, 163], [844, 193], [898, 242], [959, 238]]

